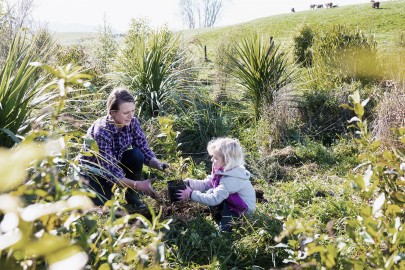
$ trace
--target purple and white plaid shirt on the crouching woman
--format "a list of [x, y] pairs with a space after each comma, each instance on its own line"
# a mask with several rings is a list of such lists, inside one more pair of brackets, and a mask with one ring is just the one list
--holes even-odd
[[87, 136], [92, 137], [98, 145], [99, 155], [82, 156], [85, 163], [96, 163], [102, 168], [102, 174], [107, 179], [114, 181], [124, 178], [125, 173], [119, 166], [123, 153], [130, 148], [139, 149], [144, 155], [144, 163], [155, 157], [146, 141], [146, 136], [141, 124], [135, 117], [129, 126], [117, 128], [107, 116], [97, 119], [87, 131]]

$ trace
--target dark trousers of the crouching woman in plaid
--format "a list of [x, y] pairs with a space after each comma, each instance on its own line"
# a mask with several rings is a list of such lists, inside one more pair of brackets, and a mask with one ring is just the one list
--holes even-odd
[[[143, 162], [144, 156], [139, 149], [129, 149], [122, 155], [120, 167], [124, 170], [126, 178], [138, 181], [142, 177]], [[97, 193], [96, 198], [93, 199], [95, 205], [104, 205], [106, 201], [112, 198], [113, 193], [111, 189], [113, 183], [111, 181], [104, 177], [93, 175], [89, 179], [89, 184]], [[127, 189], [125, 198], [130, 204], [139, 203], [139, 196], [132, 189]]]

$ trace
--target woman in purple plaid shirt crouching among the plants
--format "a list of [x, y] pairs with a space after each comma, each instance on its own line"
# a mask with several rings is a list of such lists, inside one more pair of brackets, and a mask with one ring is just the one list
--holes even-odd
[[[136, 209], [146, 208], [134, 190], [156, 197], [151, 180], [140, 181], [143, 164], [158, 170], [169, 167], [160, 162], [149, 148], [146, 136], [136, 117], [135, 101], [124, 88], [114, 89], [107, 99], [107, 115], [97, 119], [87, 136], [98, 145], [97, 155], [82, 155], [81, 163], [98, 175], [90, 177], [90, 186], [97, 192], [96, 205], [111, 199], [113, 184], [127, 187], [126, 199]], [[87, 174], [88, 176], [90, 174]]]

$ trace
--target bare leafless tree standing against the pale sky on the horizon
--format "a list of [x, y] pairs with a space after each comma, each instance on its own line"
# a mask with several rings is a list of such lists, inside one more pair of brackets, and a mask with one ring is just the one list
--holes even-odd
[[213, 27], [222, 11], [222, 0], [180, 0], [183, 20], [189, 28]]

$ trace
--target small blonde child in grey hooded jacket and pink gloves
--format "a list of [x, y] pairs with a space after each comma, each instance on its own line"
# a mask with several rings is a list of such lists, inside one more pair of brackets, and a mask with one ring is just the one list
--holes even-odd
[[207, 146], [212, 173], [205, 180], [186, 179], [187, 187], [177, 195], [220, 209], [221, 231], [230, 231], [231, 222], [256, 208], [256, 193], [245, 169], [243, 149], [231, 138], [211, 140]]

